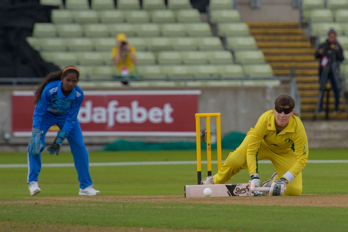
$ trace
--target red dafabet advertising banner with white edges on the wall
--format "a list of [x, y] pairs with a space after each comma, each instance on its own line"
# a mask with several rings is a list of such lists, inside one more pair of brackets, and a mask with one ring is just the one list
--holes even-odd
[[[194, 137], [200, 93], [200, 90], [84, 91], [78, 120], [84, 136]], [[30, 136], [33, 101], [32, 92], [13, 92], [15, 137]]]

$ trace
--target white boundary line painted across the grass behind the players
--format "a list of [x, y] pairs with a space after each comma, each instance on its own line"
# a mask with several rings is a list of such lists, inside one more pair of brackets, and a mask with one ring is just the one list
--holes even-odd
[[[202, 161], [207, 163], [207, 161]], [[217, 161], [212, 161], [216, 164]], [[269, 160], [260, 160], [258, 163], [271, 163]], [[348, 160], [308, 160], [307, 163], [348, 163]], [[132, 165], [173, 165], [173, 164], [197, 164], [197, 161], [143, 161], [143, 162], [107, 162], [89, 163], [89, 166], [132, 166]], [[42, 167], [74, 167], [73, 163], [45, 163]], [[0, 164], [0, 168], [27, 168], [27, 164]]]

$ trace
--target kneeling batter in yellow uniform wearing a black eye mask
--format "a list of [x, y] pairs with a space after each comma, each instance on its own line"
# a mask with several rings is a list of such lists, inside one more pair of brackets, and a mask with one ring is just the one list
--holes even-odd
[[[248, 169], [252, 196], [263, 195], [254, 191], [254, 187], [270, 187], [270, 195], [273, 196], [300, 195], [301, 171], [308, 159], [308, 139], [294, 107], [295, 101], [291, 96], [279, 95], [273, 110], [260, 116], [255, 127], [229, 154], [216, 175], [205, 177], [201, 184], [224, 184], [240, 170]], [[260, 185], [258, 161], [264, 159], [270, 160], [276, 171], [271, 179]]]

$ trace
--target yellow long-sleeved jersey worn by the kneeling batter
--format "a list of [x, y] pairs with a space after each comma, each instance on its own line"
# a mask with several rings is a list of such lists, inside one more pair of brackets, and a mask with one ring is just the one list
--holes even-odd
[[292, 115], [287, 126], [277, 133], [273, 110], [263, 113], [256, 123], [247, 148], [246, 159], [249, 174], [258, 173], [257, 156], [263, 144], [275, 155], [295, 157], [295, 163], [288, 170], [294, 177], [299, 175], [308, 159], [308, 139], [299, 117]]

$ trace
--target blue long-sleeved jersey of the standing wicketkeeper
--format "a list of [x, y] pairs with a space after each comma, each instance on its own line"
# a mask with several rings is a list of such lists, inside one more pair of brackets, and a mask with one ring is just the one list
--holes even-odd
[[63, 131], [69, 133], [78, 122], [77, 114], [84, 100], [84, 93], [79, 86], [75, 86], [69, 96], [62, 91], [62, 81], [55, 80], [48, 83], [41, 94], [41, 99], [35, 106], [33, 127], [41, 127], [42, 116], [51, 114], [57, 117], [66, 117]]

